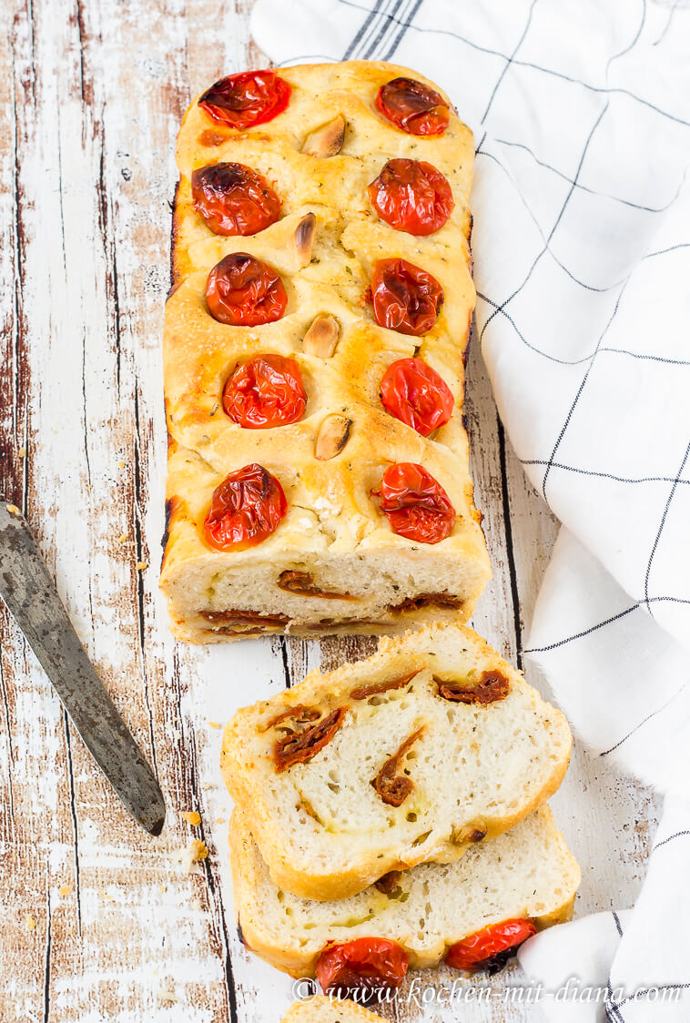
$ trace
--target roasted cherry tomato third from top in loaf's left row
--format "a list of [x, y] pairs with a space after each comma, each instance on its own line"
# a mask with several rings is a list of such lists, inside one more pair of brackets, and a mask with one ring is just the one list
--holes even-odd
[[230, 253], [209, 274], [206, 301], [220, 323], [258, 326], [281, 319], [288, 296], [272, 266], [249, 253]]

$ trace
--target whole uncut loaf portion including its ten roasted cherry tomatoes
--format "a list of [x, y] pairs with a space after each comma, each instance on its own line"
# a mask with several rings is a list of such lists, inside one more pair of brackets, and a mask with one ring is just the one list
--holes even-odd
[[388, 63], [230, 76], [189, 106], [164, 345], [180, 638], [470, 616], [473, 155]]

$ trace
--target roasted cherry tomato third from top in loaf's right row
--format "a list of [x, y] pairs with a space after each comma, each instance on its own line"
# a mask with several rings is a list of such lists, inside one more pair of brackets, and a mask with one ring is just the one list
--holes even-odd
[[372, 302], [379, 326], [419, 337], [436, 322], [443, 288], [406, 259], [380, 259], [374, 266]]

